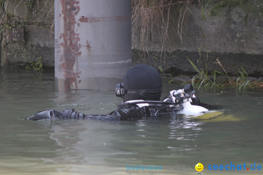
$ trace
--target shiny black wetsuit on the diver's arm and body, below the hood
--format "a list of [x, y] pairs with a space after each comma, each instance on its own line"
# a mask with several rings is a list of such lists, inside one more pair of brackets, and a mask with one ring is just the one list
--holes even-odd
[[[54, 109], [39, 111], [34, 116], [27, 118], [27, 120], [43, 120], [43, 119], [95, 119], [95, 120], [132, 120], [140, 119], [143, 116], [156, 115], [158, 112], [168, 111], [181, 111], [183, 107], [179, 104], [183, 101], [182, 98], [178, 98], [177, 103], [173, 103], [172, 99], [167, 96], [163, 101], [143, 101], [134, 100], [127, 101], [118, 104], [115, 111], [110, 112], [107, 115], [85, 115], [76, 112], [73, 108], [65, 109], [64, 111], [57, 111]], [[205, 108], [216, 109], [221, 107], [220, 105], [208, 105], [200, 102], [195, 97], [191, 97], [191, 104], [203, 106]]]

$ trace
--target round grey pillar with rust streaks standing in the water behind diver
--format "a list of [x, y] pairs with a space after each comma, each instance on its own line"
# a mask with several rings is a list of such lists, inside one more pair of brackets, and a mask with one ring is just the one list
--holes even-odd
[[115, 90], [131, 68], [131, 0], [55, 0], [55, 87]]

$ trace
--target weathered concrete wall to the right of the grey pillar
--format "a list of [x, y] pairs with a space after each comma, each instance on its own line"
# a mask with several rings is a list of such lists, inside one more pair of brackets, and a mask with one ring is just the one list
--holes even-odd
[[[262, 9], [257, 5], [263, 6], [260, 1], [254, 3], [255, 8]], [[207, 6], [204, 20], [199, 5], [193, 7], [193, 15], [188, 13], [184, 17], [182, 42], [177, 34], [178, 21], [172, 22], [166, 52], [161, 52], [162, 40], [155, 32], [152, 34], [155, 39], [148, 39], [148, 57], [147, 53], [141, 52], [140, 36], [136, 35], [132, 43], [133, 65], [144, 62], [155, 68], [162, 66], [173, 74], [196, 74], [186, 57], [197, 65], [198, 59], [206, 62], [208, 54], [207, 64], [211, 69], [223, 72], [219, 65], [214, 64], [218, 58], [229, 75], [236, 75], [242, 65], [250, 76], [263, 76], [263, 14], [235, 7], [222, 9], [212, 17], [212, 8], [213, 5]], [[175, 9], [171, 16], [179, 16], [179, 10]]]

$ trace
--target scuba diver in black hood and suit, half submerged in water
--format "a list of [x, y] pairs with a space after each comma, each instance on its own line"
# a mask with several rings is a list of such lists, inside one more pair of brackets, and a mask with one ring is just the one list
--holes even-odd
[[[153, 116], [161, 112], [201, 113], [206, 108], [217, 108], [218, 105], [201, 103], [194, 95], [192, 85], [184, 89], [172, 90], [170, 95], [160, 101], [162, 79], [159, 72], [146, 64], [133, 66], [117, 84], [115, 94], [123, 99], [115, 111], [107, 115], [85, 115], [73, 108], [64, 111], [54, 109], [39, 111], [27, 120], [43, 119], [97, 119], [97, 120], [132, 120], [143, 116]], [[204, 108], [206, 107], [206, 108]]]

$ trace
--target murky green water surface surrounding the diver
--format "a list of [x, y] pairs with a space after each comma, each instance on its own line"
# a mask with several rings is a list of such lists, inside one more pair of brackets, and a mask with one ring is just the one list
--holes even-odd
[[[183, 87], [164, 85], [163, 96]], [[222, 105], [225, 115], [239, 121], [176, 113], [138, 121], [25, 120], [51, 108], [106, 114], [121, 102], [113, 91], [54, 89], [52, 71], [0, 68], [0, 174], [136, 174], [127, 164], [162, 166], [160, 173], [145, 174], [195, 174], [198, 162], [203, 174], [219, 174], [230, 171], [209, 171], [208, 165], [263, 166], [262, 90], [196, 90], [201, 101]], [[262, 172], [242, 167], [232, 173]]]

